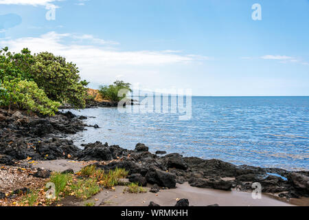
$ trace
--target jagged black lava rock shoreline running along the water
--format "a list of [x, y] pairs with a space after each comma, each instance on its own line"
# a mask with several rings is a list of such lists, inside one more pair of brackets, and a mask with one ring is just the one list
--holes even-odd
[[89, 125], [82, 122], [84, 119], [86, 117], [78, 117], [69, 111], [42, 117], [0, 109], [0, 164], [16, 166], [29, 158], [70, 159], [91, 162], [102, 170], [125, 168], [129, 172], [129, 181], [141, 186], [153, 184], [150, 192], [175, 188], [176, 184], [184, 182], [198, 188], [251, 192], [252, 184], [259, 182], [262, 192], [275, 197], [309, 197], [308, 171], [236, 166], [218, 159], [183, 157], [178, 153], [163, 155], [161, 153], [165, 152], [158, 151], [154, 154], [141, 143], [133, 151], [101, 142], [84, 144], [84, 149], [80, 149], [65, 137], [87, 129]]

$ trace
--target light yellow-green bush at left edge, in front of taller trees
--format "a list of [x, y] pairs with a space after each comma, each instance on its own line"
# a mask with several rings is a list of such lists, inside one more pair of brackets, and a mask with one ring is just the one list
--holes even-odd
[[27, 109], [43, 115], [54, 115], [60, 106], [59, 102], [49, 100], [43, 89], [39, 89], [36, 83], [21, 80], [21, 78], [3, 81], [0, 100], [0, 104], [8, 107], [9, 110], [12, 105], [16, 105], [19, 109]]

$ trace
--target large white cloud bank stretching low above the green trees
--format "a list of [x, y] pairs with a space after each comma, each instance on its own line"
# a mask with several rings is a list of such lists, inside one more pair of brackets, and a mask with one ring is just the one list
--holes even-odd
[[[77, 42], [76, 42], [77, 40]], [[0, 39], [0, 46], [20, 52], [28, 47], [32, 53], [43, 51], [65, 56], [67, 61], [76, 63], [82, 78], [95, 83], [111, 83], [122, 78], [130, 83], [161, 85], [167, 74], [180, 71], [188, 65], [208, 60], [207, 56], [183, 54], [179, 51], [121, 51], [117, 43], [104, 41], [92, 35], [59, 34], [48, 32], [38, 37]], [[185, 65], [185, 66], [184, 66]], [[178, 70], [177, 70], [178, 69]], [[190, 73], [187, 73], [190, 74]], [[149, 80], [150, 77], [152, 80]]]

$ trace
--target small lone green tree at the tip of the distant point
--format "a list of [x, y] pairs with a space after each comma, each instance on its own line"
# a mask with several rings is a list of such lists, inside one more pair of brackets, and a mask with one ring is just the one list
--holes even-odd
[[99, 89], [99, 93], [112, 102], [119, 102], [122, 98], [126, 98], [126, 95], [130, 89], [130, 83], [124, 83], [122, 80], [117, 80], [113, 85], [104, 85]]

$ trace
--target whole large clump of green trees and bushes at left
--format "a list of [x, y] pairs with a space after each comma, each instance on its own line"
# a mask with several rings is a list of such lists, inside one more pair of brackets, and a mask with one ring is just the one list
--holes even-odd
[[88, 83], [80, 81], [78, 67], [62, 56], [43, 52], [32, 55], [0, 50], [0, 106], [12, 106], [53, 115], [60, 104], [84, 108]]

